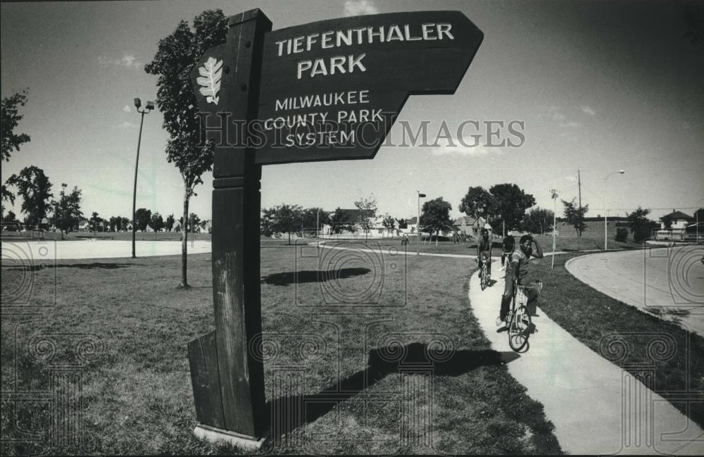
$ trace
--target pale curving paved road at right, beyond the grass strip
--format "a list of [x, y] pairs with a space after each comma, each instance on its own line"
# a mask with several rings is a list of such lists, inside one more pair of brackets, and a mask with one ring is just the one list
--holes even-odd
[[596, 253], [565, 268], [582, 282], [704, 336], [704, 246]]

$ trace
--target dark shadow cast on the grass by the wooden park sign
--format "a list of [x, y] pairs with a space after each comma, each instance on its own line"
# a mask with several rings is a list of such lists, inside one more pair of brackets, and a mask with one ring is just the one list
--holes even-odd
[[[394, 357], [390, 358], [389, 354]], [[482, 366], [501, 365], [519, 357], [513, 351], [434, 351], [422, 343], [372, 349], [365, 370], [339, 380], [317, 394], [283, 396], [268, 401], [271, 439], [277, 442], [283, 435], [318, 420], [388, 375], [460, 376]], [[293, 378], [286, 377], [282, 382], [295, 383], [294, 378], [300, 375], [290, 374], [294, 375]]]

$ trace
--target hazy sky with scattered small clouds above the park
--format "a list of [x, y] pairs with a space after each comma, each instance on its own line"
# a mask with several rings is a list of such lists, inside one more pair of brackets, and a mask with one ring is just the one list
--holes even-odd
[[[458, 216], [468, 187], [512, 182], [552, 209], [549, 189], [577, 198], [577, 170], [587, 216], [603, 216], [605, 183], [610, 215], [704, 206], [704, 47], [685, 37], [685, 10], [672, 1], [2, 3], [1, 95], [28, 88], [16, 132], [31, 141], [2, 163], [1, 179], [36, 165], [55, 195], [62, 182], [82, 189], [84, 214], [129, 216], [140, 122], [132, 100], [156, 97], [144, 63], [180, 20], [215, 8], [260, 8], [274, 30], [344, 15], [463, 11], [484, 32], [463, 81], [453, 95], [410, 96], [399, 119], [428, 120], [429, 132], [443, 122], [524, 123], [514, 148], [488, 146], [484, 131], [476, 147], [382, 147], [371, 160], [265, 165], [263, 207], [332, 211], [373, 194], [379, 213], [407, 218], [420, 191], [444, 197]], [[137, 208], [178, 217], [183, 184], [166, 161], [162, 122], [158, 111], [144, 116]], [[191, 199], [201, 219], [211, 217], [212, 188], [206, 173]], [[19, 214], [20, 202], [6, 208]]]

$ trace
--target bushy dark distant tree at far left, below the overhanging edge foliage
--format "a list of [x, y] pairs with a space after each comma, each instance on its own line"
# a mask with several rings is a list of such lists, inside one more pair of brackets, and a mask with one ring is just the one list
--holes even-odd
[[35, 167], [25, 167], [19, 175], [12, 175], [7, 183], [17, 188], [22, 196], [22, 212], [27, 215], [26, 222], [30, 227], [36, 227], [46, 217], [51, 197], [51, 182], [44, 175], [44, 170]]

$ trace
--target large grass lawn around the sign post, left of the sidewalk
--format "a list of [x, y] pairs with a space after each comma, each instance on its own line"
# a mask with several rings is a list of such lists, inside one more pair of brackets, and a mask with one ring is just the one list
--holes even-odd
[[[503, 364], [515, 355], [488, 350], [467, 299], [470, 268], [262, 249], [268, 407], [308, 408], [293, 425], [277, 420], [262, 453], [560, 453], [542, 405]], [[32, 272], [24, 314], [2, 315], [1, 432], [25, 441], [4, 442], [3, 455], [237, 453], [192, 434], [186, 345], [212, 330], [210, 255], [189, 256], [192, 289], [175, 289], [179, 271], [169, 256]], [[3, 265], [4, 299], [22, 275]], [[23, 401], [8, 401], [20, 391]], [[56, 413], [55, 396], [77, 396], [75, 414]], [[47, 430], [72, 438], [50, 444]]]

